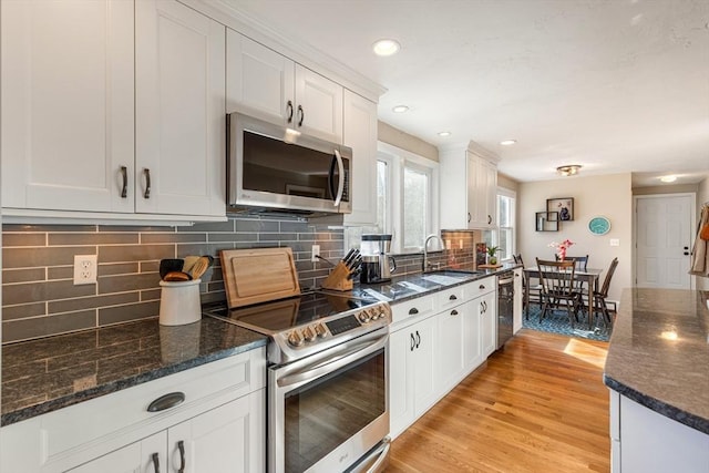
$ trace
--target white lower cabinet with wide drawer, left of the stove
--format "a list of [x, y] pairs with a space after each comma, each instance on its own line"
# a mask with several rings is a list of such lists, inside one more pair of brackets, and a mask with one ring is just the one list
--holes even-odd
[[261, 348], [38, 415], [2, 428], [0, 471], [263, 472], [265, 383]]

